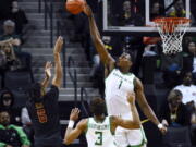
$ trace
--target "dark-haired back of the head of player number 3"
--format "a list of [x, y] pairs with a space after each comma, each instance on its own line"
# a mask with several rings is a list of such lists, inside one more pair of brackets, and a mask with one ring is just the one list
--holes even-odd
[[106, 113], [106, 103], [102, 98], [94, 98], [90, 101], [90, 111], [95, 115], [102, 115]]

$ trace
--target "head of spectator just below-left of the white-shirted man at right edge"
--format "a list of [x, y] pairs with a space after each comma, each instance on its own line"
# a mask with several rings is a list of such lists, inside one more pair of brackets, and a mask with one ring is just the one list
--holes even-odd
[[170, 91], [168, 96], [168, 102], [173, 107], [177, 107], [182, 102], [182, 93], [177, 89]]

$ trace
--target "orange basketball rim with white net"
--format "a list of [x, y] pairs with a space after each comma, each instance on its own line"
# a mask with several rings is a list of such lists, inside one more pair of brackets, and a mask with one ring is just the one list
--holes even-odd
[[191, 20], [186, 17], [161, 17], [154, 22], [162, 39], [163, 53], [181, 52], [182, 39]]

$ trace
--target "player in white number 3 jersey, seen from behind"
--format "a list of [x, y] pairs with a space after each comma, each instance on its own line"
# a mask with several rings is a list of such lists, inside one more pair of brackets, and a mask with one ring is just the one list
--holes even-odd
[[[135, 107], [135, 94], [130, 93], [126, 96], [132, 115], [127, 119], [110, 115], [106, 117], [106, 103], [101, 98], [95, 98], [90, 102], [91, 118], [81, 120], [76, 127], [73, 128], [74, 122], [78, 119], [79, 110], [72, 109], [70, 122], [64, 136], [64, 144], [69, 145], [76, 139], [82, 133], [86, 133], [88, 147], [117, 147], [114, 144], [114, 131], [117, 126], [125, 128], [139, 128], [140, 121]], [[131, 120], [132, 119], [132, 120]]]

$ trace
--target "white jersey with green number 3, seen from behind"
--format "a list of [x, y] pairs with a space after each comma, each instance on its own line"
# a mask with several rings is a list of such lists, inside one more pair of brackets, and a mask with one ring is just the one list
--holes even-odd
[[88, 147], [115, 147], [114, 137], [110, 130], [110, 117], [106, 117], [102, 123], [89, 118], [86, 139]]

